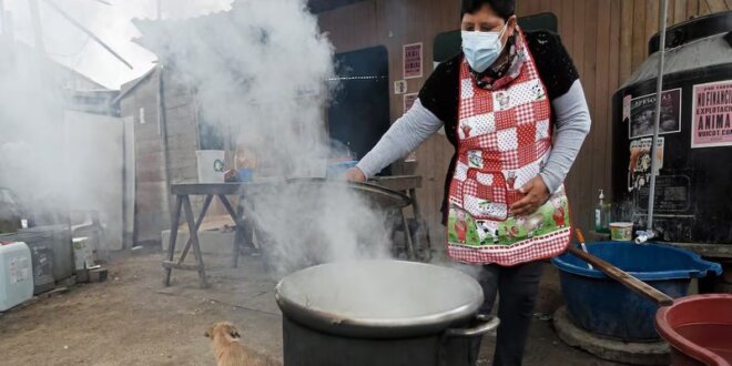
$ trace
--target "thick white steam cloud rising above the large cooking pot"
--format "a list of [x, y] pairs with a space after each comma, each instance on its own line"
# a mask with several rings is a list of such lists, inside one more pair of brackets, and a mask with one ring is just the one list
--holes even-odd
[[283, 182], [323, 176], [335, 153], [324, 118], [334, 49], [305, 1], [236, 1], [210, 17], [215, 32], [141, 21], [141, 42], [164, 50], [161, 63], [185, 78], [206, 123], [256, 154], [255, 180], [272, 184], [245, 192], [245, 205], [274, 273], [388, 256], [388, 217], [368, 200], [345, 184]]

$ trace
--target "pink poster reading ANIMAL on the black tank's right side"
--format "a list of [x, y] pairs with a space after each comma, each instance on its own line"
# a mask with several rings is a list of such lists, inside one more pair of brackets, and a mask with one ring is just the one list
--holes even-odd
[[732, 80], [694, 85], [691, 148], [732, 145]]

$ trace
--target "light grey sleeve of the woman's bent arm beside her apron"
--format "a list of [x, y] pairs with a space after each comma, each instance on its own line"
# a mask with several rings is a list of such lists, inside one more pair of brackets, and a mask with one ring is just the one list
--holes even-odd
[[565, 181], [569, 169], [590, 132], [590, 111], [579, 79], [569, 91], [551, 101], [556, 114], [556, 135], [549, 160], [540, 176], [552, 193]]

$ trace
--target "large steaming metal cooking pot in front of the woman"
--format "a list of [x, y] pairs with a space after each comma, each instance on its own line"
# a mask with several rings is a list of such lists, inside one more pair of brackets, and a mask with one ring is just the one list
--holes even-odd
[[276, 288], [285, 365], [475, 365], [498, 326], [478, 316], [480, 285], [451, 268], [400, 261], [309, 267]]

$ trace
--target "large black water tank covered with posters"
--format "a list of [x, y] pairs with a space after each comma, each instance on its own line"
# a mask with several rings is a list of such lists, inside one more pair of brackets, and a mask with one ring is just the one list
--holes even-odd
[[[732, 245], [732, 11], [697, 18], [667, 31], [658, 144], [654, 226], [663, 240]], [[650, 134], [655, 106], [659, 35], [648, 60], [616, 92], [612, 192], [645, 227]], [[631, 159], [632, 155], [632, 159]]]

